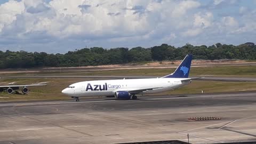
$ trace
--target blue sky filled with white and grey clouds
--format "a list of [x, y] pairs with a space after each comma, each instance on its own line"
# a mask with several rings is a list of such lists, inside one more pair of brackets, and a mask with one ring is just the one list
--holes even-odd
[[0, 50], [255, 42], [256, 0], [0, 1]]

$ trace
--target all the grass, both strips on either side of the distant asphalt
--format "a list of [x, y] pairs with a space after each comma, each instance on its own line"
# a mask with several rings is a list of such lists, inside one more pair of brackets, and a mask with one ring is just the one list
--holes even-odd
[[[74, 76], [164, 76], [174, 71], [174, 68], [155, 69], [129, 69], [129, 70], [107, 70], [107, 71], [67, 71], [54, 73], [32, 73], [26, 75], [74, 75]], [[13, 76], [15, 74], [5, 74]], [[22, 75], [22, 74], [18, 74]], [[24, 74], [23, 74], [24, 75]], [[214, 66], [214, 67], [192, 67], [190, 76], [225, 76], [225, 77], [256, 77], [256, 66]], [[5, 100], [63, 100], [70, 99], [61, 93], [68, 85], [81, 81], [90, 81], [93, 78], [32, 78], [32, 79], [1, 79], [1, 85], [15, 82], [15, 84], [32, 84], [48, 82], [46, 86], [29, 87], [28, 94], [7, 94], [0, 93], [0, 101]], [[161, 94], [191, 94], [191, 93], [217, 93], [256, 91], [255, 82], [214, 82], [214, 81], [193, 81], [191, 84], [174, 91]]]

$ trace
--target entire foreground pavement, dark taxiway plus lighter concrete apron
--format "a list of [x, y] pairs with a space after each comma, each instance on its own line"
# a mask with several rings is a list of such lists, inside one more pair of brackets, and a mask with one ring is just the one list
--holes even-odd
[[[0, 143], [256, 140], [256, 93], [0, 103]], [[191, 121], [215, 116], [219, 121]]]

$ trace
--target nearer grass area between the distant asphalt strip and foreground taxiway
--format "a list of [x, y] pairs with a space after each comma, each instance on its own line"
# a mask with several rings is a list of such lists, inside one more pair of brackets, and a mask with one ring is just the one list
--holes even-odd
[[[20, 84], [49, 82], [46, 86], [29, 87], [28, 94], [7, 94], [0, 93], [0, 101], [20, 101], [20, 100], [67, 100], [70, 99], [61, 93], [68, 85], [90, 81], [92, 79], [74, 79], [74, 78], [41, 78], [41, 79], [4, 79], [6, 82], [17, 82]], [[187, 86], [174, 91], [167, 91], [162, 94], [192, 94], [192, 93], [215, 93], [215, 92], [237, 92], [237, 91], [256, 91], [254, 82], [213, 82], [213, 81], [193, 81]]]

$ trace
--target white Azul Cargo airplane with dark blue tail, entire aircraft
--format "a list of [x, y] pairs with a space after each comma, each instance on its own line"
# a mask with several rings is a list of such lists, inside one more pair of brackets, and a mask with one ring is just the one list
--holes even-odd
[[100, 81], [85, 81], [69, 85], [62, 90], [63, 94], [71, 96], [76, 101], [79, 97], [92, 96], [113, 96], [117, 99], [137, 99], [136, 94], [159, 93], [177, 89], [187, 85], [192, 79], [188, 78], [192, 54], [187, 54], [180, 65], [170, 75], [160, 78], [139, 78], [139, 79], [111, 79]]

